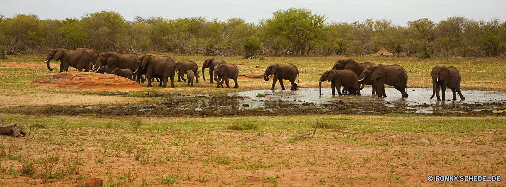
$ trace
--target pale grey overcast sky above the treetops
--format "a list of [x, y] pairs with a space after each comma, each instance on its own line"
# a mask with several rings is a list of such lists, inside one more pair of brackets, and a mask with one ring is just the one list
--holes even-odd
[[40, 19], [81, 18], [86, 13], [115, 11], [126, 20], [133, 21], [136, 16], [148, 18], [163, 17], [177, 19], [186, 17], [206, 17], [207, 20], [226, 21], [230, 18], [243, 18], [246, 22], [258, 23], [261, 19], [272, 17], [279, 9], [306, 8], [313, 13], [324, 14], [327, 22], [364, 21], [389, 19], [396, 25], [406, 26], [408, 21], [428, 18], [434, 23], [451, 16], [463, 16], [474, 20], [491, 20], [494, 17], [506, 20], [506, 1], [504, 0], [224, 0], [224, 1], [23, 1], [0, 0], [0, 14], [13, 17], [16, 14], [35, 14]]

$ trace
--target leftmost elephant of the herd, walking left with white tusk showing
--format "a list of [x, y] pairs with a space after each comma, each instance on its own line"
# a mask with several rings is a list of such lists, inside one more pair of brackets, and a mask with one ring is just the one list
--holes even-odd
[[60, 73], [68, 71], [68, 67], [77, 68], [78, 71], [84, 70], [89, 72], [92, 68], [90, 62], [90, 55], [83, 50], [67, 50], [63, 48], [51, 49], [48, 56], [46, 57], [46, 65], [49, 71], [53, 71], [49, 67], [49, 61], [51, 60], [60, 61]]

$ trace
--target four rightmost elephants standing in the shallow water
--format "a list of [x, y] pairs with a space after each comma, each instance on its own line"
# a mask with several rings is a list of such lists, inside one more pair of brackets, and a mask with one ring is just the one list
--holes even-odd
[[[441, 96], [445, 100], [445, 90], [450, 88], [453, 91], [453, 100], [456, 100], [455, 91], [458, 92], [461, 100], [465, 97], [460, 92], [460, 73], [457, 68], [450, 66], [435, 66], [431, 71], [433, 93], [431, 99], [436, 95], [439, 97], [439, 88], [441, 87]], [[401, 97], [408, 97], [406, 92], [408, 75], [406, 70], [400, 65], [376, 65], [370, 62], [358, 63], [353, 59], [338, 60], [330, 71], [325, 71], [320, 77], [319, 87], [321, 95], [321, 82], [328, 81], [331, 83], [332, 95], [335, 95], [335, 89], [338, 94], [342, 95], [340, 86], [343, 86], [343, 92], [348, 91], [349, 94], [360, 95], [360, 90], [364, 86], [371, 85], [372, 94], [377, 94], [378, 98], [387, 97], [385, 94], [385, 84], [394, 86]]]

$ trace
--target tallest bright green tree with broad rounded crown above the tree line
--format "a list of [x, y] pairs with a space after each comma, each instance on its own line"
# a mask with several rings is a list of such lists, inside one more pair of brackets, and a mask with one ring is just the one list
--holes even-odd
[[313, 14], [305, 8], [289, 8], [275, 11], [272, 18], [265, 20], [265, 26], [269, 35], [289, 40], [298, 55], [308, 42], [325, 38], [326, 19], [325, 15]]

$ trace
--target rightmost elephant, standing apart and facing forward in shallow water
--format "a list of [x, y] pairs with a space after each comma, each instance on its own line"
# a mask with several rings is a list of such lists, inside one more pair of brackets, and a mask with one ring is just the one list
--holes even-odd
[[431, 71], [431, 81], [432, 81], [432, 96], [435, 94], [438, 101], [441, 101], [439, 98], [439, 87], [441, 87], [441, 97], [443, 101], [445, 100], [445, 91], [446, 88], [450, 88], [453, 92], [453, 100], [457, 99], [455, 95], [455, 90], [458, 92], [460, 96], [460, 100], [466, 100], [462, 92], [460, 92], [460, 72], [458, 72], [457, 68], [450, 66], [434, 66]]

